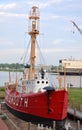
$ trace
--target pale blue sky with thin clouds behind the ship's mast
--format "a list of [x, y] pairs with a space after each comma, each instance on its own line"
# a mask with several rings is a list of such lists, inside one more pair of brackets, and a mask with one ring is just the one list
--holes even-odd
[[[46, 64], [59, 59], [82, 59], [82, 0], [0, 0], [0, 63], [17, 63], [29, 42], [28, 14], [40, 10], [41, 47]], [[74, 32], [74, 33], [73, 33]]]

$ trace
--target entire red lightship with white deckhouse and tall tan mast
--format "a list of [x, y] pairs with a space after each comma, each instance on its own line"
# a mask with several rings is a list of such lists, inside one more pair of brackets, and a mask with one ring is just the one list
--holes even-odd
[[41, 67], [35, 71], [36, 37], [39, 35], [38, 7], [33, 6], [29, 15], [29, 32], [31, 37], [30, 64], [24, 69], [21, 82], [6, 84], [5, 104], [19, 118], [32, 123], [52, 126], [63, 130], [67, 117], [68, 92], [66, 87], [59, 89], [52, 86], [47, 72]]

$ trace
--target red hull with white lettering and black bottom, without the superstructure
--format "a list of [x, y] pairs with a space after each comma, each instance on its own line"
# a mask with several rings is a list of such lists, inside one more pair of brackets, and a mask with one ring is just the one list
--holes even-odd
[[62, 121], [67, 117], [68, 93], [65, 90], [20, 94], [6, 90], [8, 109], [23, 120], [43, 123]]

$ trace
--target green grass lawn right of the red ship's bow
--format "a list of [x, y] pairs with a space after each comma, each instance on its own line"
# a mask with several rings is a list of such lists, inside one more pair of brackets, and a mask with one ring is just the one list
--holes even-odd
[[82, 105], [82, 88], [69, 88], [69, 106], [80, 110]]

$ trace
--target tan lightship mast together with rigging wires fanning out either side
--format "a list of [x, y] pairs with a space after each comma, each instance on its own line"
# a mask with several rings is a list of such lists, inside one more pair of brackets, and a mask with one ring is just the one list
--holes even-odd
[[[25, 66], [28, 66], [29, 69], [29, 79], [34, 78], [35, 74], [35, 60], [36, 60], [36, 54], [37, 56], [37, 61], [40, 67], [45, 66], [45, 60], [43, 58], [40, 46], [37, 41], [37, 36], [39, 35], [39, 19], [40, 19], [40, 14], [38, 7], [33, 6], [32, 10], [30, 11], [29, 14], [29, 21], [28, 21], [28, 34], [30, 35], [30, 40], [28, 42], [27, 47], [25, 48], [24, 54], [21, 57], [20, 61], [23, 62]], [[27, 33], [25, 33], [25, 38], [26, 38]], [[25, 39], [26, 41], [26, 39]], [[37, 49], [35, 50], [35, 48]], [[29, 54], [29, 49], [31, 48], [31, 53]], [[30, 55], [30, 58], [27, 59], [28, 55]]]

